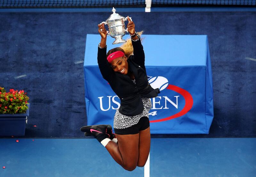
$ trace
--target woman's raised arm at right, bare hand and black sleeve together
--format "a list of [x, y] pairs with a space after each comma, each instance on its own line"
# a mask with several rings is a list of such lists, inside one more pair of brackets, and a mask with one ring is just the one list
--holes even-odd
[[133, 61], [141, 66], [145, 66], [145, 54], [143, 46], [140, 41], [140, 36], [135, 32], [135, 24], [131, 19], [127, 18], [129, 23], [127, 25], [128, 32], [131, 35], [132, 47], [133, 47]]

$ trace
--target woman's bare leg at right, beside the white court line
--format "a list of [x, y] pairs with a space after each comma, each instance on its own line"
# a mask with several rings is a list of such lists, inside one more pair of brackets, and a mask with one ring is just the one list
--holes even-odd
[[139, 133], [139, 158], [137, 166], [145, 166], [150, 151], [150, 127]]

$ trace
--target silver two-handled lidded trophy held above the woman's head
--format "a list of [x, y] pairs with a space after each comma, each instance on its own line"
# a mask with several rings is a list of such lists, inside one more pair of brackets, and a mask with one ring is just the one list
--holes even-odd
[[[113, 7], [112, 9], [113, 14], [111, 14], [106, 21], [100, 23], [104, 23], [105, 25], [108, 24], [107, 34], [110, 35], [112, 38], [116, 40], [112, 44], [120, 44], [126, 42], [122, 37], [125, 35], [125, 32], [128, 33], [128, 29], [125, 29], [124, 21], [127, 20], [127, 17], [123, 17], [116, 13], [116, 9]], [[132, 18], [129, 17], [132, 21]]]

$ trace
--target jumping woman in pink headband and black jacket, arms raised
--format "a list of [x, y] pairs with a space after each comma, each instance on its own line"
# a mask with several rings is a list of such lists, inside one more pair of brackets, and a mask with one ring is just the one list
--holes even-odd
[[143, 167], [148, 159], [150, 98], [160, 92], [148, 83], [140, 35], [135, 32], [134, 22], [129, 17], [128, 21], [133, 55], [130, 55], [132, 52], [125, 53], [122, 48], [113, 48], [107, 53], [107, 31], [104, 24], [98, 25], [101, 36], [98, 45], [100, 72], [121, 100], [114, 116], [115, 134], [112, 133], [111, 125], [85, 126], [81, 131], [86, 136], [94, 136], [119, 165], [132, 171], [136, 166]]

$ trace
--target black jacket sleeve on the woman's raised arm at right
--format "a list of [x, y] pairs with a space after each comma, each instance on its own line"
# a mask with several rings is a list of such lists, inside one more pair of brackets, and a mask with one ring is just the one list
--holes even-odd
[[138, 36], [138, 41], [132, 41], [133, 47], [133, 62], [137, 63], [138, 65], [145, 66], [145, 54], [143, 50], [143, 46], [140, 41], [140, 36]]

